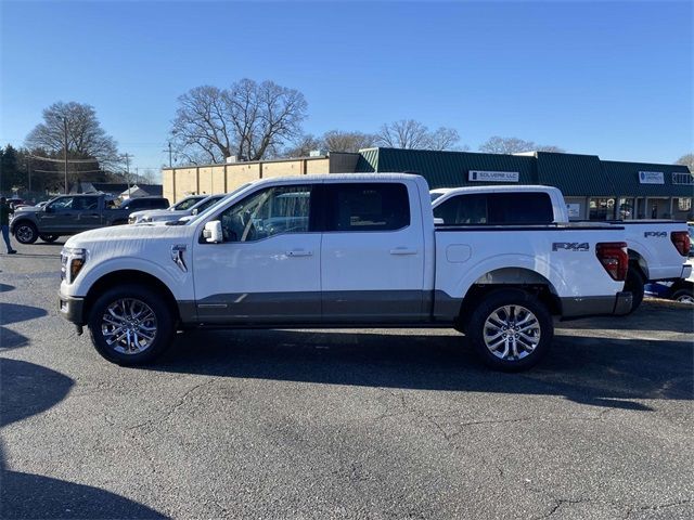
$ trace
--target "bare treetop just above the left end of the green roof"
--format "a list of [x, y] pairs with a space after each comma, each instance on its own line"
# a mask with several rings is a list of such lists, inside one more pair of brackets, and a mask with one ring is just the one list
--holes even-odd
[[390, 148], [408, 150], [457, 150], [458, 131], [441, 127], [430, 132], [426, 125], [414, 119], [402, 119], [386, 123], [376, 134], [375, 144]]

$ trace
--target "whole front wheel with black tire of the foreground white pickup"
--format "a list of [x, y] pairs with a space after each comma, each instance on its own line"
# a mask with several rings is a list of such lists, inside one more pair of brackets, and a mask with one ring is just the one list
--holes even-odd
[[174, 316], [166, 302], [145, 287], [124, 285], [97, 299], [89, 317], [97, 351], [112, 363], [142, 365], [171, 343]]

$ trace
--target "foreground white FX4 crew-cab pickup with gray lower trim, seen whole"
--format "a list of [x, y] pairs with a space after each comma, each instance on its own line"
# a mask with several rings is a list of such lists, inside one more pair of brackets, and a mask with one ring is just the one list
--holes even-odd
[[150, 362], [177, 329], [454, 327], [494, 368], [537, 363], [552, 316], [624, 314], [624, 229], [435, 229], [410, 174], [269, 179], [183, 225], [81, 233], [60, 311], [105, 359]]

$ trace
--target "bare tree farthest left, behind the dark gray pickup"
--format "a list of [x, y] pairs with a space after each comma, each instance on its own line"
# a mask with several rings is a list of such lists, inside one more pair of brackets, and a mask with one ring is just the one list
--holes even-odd
[[97, 159], [104, 169], [120, 164], [116, 141], [101, 128], [94, 108], [81, 103], [59, 102], [46, 108], [43, 122], [29, 132], [26, 146], [62, 154], [66, 147], [65, 122], [68, 159]]

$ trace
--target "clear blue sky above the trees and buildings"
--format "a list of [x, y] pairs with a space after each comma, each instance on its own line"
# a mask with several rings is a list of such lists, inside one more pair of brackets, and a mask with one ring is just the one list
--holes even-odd
[[158, 168], [177, 98], [248, 77], [301, 91], [314, 134], [413, 118], [473, 151], [494, 134], [604, 159], [693, 147], [689, 1], [2, 0], [0, 15], [2, 145], [76, 101]]

